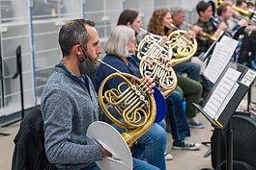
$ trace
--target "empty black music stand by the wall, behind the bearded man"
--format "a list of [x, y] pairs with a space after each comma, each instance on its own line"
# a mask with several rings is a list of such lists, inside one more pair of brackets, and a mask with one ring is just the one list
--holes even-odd
[[14, 122], [8, 123], [2, 127], [7, 127], [22, 120], [25, 116], [24, 111], [24, 97], [23, 97], [23, 81], [22, 81], [22, 60], [21, 60], [21, 46], [16, 48], [16, 72], [12, 79], [16, 79], [19, 76], [19, 86], [20, 86], [20, 102], [21, 102], [21, 119], [14, 120]]

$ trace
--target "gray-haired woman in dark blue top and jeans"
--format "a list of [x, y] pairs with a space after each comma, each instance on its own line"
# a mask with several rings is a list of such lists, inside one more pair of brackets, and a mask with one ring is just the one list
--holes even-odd
[[[103, 58], [103, 61], [123, 73], [128, 73], [135, 77], [141, 78], [138, 64], [132, 57], [135, 49], [136, 38], [134, 31], [128, 26], [117, 26], [115, 29], [113, 29], [106, 41], [106, 56]], [[94, 81], [97, 91], [99, 90], [100, 83], [104, 80], [104, 78], [114, 72], [115, 70], [112, 68], [100, 63], [96, 70]], [[106, 83], [105, 88], [107, 89], [104, 90], [116, 87], [122, 82], [123, 81], [120, 78], [112, 79]], [[137, 139], [137, 144], [133, 146], [134, 152], [132, 153], [135, 158], [146, 160], [148, 163], [161, 170], [166, 169], [164, 160], [164, 151], [166, 145], [165, 126], [164, 121], [154, 123], [147, 133], [143, 134]], [[119, 131], [122, 132], [122, 130]]]

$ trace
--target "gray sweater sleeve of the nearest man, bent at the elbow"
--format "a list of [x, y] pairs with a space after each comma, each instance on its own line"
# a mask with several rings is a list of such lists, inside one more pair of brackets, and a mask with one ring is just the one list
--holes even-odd
[[102, 158], [99, 145], [71, 140], [73, 105], [71, 96], [61, 89], [48, 92], [42, 101], [45, 150], [52, 163], [88, 163]]

